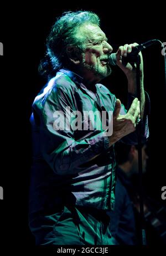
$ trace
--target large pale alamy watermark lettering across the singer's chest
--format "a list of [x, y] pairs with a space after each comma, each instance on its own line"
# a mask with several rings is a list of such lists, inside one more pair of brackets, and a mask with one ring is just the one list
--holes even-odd
[[111, 136], [113, 132], [113, 111], [55, 111], [53, 128], [58, 131], [105, 131], [103, 136]]

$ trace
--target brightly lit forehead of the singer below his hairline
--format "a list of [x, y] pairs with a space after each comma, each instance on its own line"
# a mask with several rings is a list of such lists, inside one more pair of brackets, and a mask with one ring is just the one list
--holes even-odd
[[89, 41], [95, 40], [99, 37], [105, 38], [105, 33], [101, 30], [98, 25], [84, 24], [80, 27], [80, 33], [84, 34]]

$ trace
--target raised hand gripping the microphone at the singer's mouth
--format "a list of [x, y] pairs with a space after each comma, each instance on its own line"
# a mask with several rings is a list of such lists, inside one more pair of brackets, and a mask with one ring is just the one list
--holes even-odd
[[[123, 70], [128, 80], [136, 79], [136, 64], [131, 65], [130, 63], [127, 63], [127, 65], [123, 65], [122, 57], [126, 57], [127, 53], [131, 53], [132, 49], [137, 45], [138, 45], [137, 43], [125, 44], [124, 46], [120, 46], [116, 53], [117, 65]], [[139, 55], [141, 56], [140, 75], [142, 78], [143, 77], [143, 58], [142, 58], [141, 52], [139, 52]]]

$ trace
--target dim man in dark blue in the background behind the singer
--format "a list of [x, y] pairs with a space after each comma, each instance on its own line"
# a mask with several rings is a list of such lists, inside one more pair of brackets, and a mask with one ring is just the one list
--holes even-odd
[[[146, 172], [148, 159], [146, 148], [147, 145], [143, 143], [143, 173]], [[134, 245], [138, 243], [138, 232], [136, 231], [136, 219], [134, 216], [133, 204], [136, 203], [138, 208], [139, 202], [137, 199], [138, 188], [134, 186], [132, 177], [138, 175], [138, 149], [137, 145], [127, 145], [118, 142], [115, 151], [118, 164], [115, 209], [112, 212], [108, 212], [108, 215], [111, 217], [111, 234], [116, 238], [116, 241], [119, 244]]]

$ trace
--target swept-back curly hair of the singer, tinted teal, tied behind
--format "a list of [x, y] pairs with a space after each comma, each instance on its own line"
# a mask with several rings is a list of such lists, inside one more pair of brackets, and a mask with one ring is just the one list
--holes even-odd
[[51, 76], [56, 70], [67, 65], [68, 45], [77, 47], [80, 53], [84, 51], [85, 38], [79, 33], [79, 28], [85, 23], [100, 25], [100, 19], [97, 14], [90, 11], [64, 12], [56, 19], [46, 39], [46, 54], [39, 65], [40, 74]]

